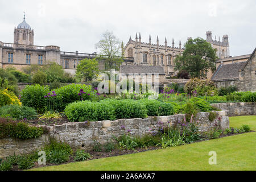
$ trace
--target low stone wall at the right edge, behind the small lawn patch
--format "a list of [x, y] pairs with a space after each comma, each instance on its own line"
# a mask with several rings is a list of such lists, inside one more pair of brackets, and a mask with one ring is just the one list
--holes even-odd
[[256, 115], [256, 102], [236, 102], [211, 104], [221, 110], [228, 110], [229, 116]]

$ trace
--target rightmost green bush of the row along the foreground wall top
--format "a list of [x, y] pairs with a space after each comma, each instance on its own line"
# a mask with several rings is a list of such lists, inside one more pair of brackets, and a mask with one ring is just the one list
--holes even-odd
[[139, 100], [146, 106], [148, 116], [174, 115], [174, 105], [157, 100]]

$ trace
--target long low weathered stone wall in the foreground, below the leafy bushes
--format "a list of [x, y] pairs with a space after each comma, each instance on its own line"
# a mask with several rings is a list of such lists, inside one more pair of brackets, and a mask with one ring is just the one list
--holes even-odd
[[[229, 128], [229, 117], [226, 111], [217, 112], [216, 121], [209, 121], [209, 113], [197, 114], [200, 131], [212, 129], [216, 122], [220, 121], [221, 129]], [[150, 129], [156, 128], [158, 122], [166, 125], [177, 125], [183, 122], [184, 114], [171, 115], [167, 117], [148, 117], [146, 119], [119, 119], [117, 121], [81, 122], [67, 123], [61, 126], [51, 126], [48, 135], [43, 135], [37, 139], [0, 139], [0, 158], [21, 153], [30, 153], [37, 150], [49, 142], [50, 138], [62, 140], [71, 144], [74, 148], [86, 148], [92, 146], [94, 140], [105, 143], [112, 140], [112, 134], [116, 137], [123, 135], [127, 130], [131, 130], [132, 135], [149, 134]], [[218, 119], [220, 118], [220, 120]], [[125, 130], [121, 129], [125, 126]]]

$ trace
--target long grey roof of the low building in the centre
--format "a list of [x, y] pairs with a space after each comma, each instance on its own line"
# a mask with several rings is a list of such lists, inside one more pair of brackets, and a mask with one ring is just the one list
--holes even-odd
[[121, 65], [120, 73], [128, 75], [129, 73], [144, 73], [144, 74], [159, 74], [166, 75], [163, 67], [160, 66], [148, 66], [148, 65]]

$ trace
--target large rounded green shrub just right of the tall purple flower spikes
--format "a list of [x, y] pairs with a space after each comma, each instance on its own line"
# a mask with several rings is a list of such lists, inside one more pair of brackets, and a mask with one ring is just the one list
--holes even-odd
[[[80, 90], [82, 89], [81, 96], [79, 95]], [[96, 95], [96, 90], [92, 91], [92, 86], [90, 85], [81, 85], [81, 84], [70, 84], [63, 86], [55, 90], [56, 92], [56, 110], [64, 111], [65, 107], [68, 104], [71, 104], [75, 101], [85, 101], [91, 100]]]

